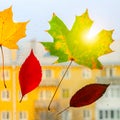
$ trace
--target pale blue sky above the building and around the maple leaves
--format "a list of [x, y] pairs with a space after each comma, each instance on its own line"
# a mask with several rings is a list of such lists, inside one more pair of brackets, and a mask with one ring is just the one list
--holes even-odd
[[26, 37], [20, 41], [52, 41], [45, 30], [50, 27], [48, 21], [53, 13], [71, 29], [75, 16], [82, 15], [88, 9], [94, 21], [91, 31], [97, 33], [101, 29], [114, 30], [115, 43], [112, 49], [120, 52], [120, 0], [0, 0], [0, 11], [10, 6], [14, 21], [30, 20]]

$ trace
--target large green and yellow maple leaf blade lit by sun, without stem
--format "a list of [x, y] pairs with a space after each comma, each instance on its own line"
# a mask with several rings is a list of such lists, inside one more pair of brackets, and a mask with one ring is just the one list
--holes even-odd
[[48, 33], [54, 41], [41, 43], [51, 55], [58, 57], [58, 63], [73, 60], [79, 65], [99, 69], [102, 64], [98, 57], [112, 52], [109, 46], [113, 42], [113, 30], [102, 30], [90, 41], [86, 37], [93, 24], [88, 10], [81, 16], [76, 16], [71, 30], [55, 14], [49, 24]]

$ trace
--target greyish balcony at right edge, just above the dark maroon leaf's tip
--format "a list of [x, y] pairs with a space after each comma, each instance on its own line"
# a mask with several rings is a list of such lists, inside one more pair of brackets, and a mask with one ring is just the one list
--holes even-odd
[[96, 78], [97, 83], [120, 85], [120, 76], [100, 76]]

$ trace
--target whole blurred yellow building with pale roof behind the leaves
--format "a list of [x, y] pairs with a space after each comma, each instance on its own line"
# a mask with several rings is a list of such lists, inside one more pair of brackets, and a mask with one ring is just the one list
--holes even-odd
[[[19, 51], [5, 50], [5, 81], [0, 68], [0, 119], [1, 120], [119, 120], [120, 119], [120, 66], [106, 66], [103, 70], [90, 70], [72, 63], [61, 83], [48, 111], [48, 104], [64, 74], [69, 62], [52, 64], [57, 58], [44, 51], [40, 43], [32, 41], [24, 44]], [[42, 81], [35, 90], [24, 96], [20, 103], [19, 70], [31, 48], [42, 65]], [[8, 52], [7, 52], [8, 51]], [[1, 62], [2, 63], [2, 62]], [[71, 96], [90, 83], [110, 83], [107, 92], [94, 104], [69, 108], [62, 114], [56, 114], [69, 106]]]

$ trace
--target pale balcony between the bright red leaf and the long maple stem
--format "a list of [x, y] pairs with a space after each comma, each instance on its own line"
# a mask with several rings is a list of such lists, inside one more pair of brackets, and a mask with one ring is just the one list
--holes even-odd
[[40, 86], [57, 86], [58, 82], [58, 79], [43, 79], [40, 83]]

